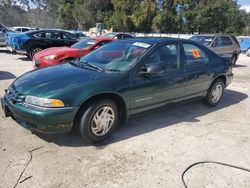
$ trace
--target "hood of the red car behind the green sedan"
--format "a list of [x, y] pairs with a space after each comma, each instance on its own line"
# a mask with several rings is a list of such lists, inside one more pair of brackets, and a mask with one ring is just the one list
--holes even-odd
[[39, 52], [36, 56], [37, 57], [44, 57], [48, 55], [61, 55], [68, 52], [78, 52], [80, 49], [77, 48], [70, 48], [70, 47], [54, 47], [54, 48], [47, 48]]

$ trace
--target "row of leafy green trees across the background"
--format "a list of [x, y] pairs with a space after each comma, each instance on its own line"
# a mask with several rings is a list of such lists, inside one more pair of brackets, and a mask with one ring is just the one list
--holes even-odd
[[88, 30], [105, 23], [124, 32], [250, 34], [250, 14], [236, 0], [19, 0], [27, 10], [14, 2], [0, 3], [7, 25]]

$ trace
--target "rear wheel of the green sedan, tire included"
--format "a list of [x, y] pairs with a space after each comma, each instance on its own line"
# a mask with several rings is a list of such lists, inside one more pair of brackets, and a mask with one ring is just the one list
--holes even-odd
[[209, 106], [216, 106], [224, 93], [225, 84], [223, 80], [216, 79], [208, 89], [207, 95], [205, 97], [205, 102]]

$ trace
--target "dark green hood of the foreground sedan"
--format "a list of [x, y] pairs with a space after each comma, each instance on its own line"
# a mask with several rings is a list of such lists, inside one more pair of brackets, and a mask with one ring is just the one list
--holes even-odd
[[30, 71], [17, 78], [12, 87], [22, 95], [53, 97], [74, 88], [103, 82], [112, 74], [80, 68], [73, 63]]

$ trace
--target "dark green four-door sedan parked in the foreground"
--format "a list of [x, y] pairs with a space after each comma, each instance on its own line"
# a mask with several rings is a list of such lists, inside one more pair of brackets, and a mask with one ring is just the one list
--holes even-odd
[[204, 98], [215, 106], [232, 81], [229, 59], [188, 40], [116, 41], [74, 61], [30, 71], [1, 99], [5, 116], [42, 133], [73, 128], [100, 142], [133, 114]]

